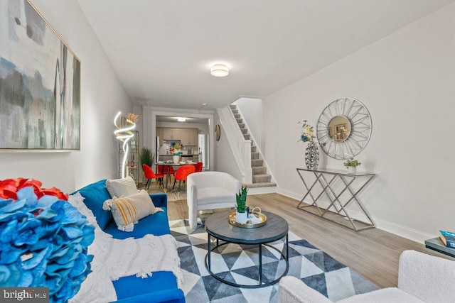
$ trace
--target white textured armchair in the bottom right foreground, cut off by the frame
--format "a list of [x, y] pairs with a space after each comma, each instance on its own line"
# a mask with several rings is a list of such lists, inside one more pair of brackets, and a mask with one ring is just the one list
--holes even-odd
[[[415, 250], [400, 256], [398, 287], [389, 287], [342, 299], [343, 303], [455, 302], [455, 262]], [[331, 300], [296, 277], [279, 282], [279, 303], [328, 303]]]

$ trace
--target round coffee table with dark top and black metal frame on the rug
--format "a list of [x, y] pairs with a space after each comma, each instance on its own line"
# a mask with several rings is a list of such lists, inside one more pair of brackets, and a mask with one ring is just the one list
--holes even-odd
[[[267, 224], [258, 228], [242, 228], [233, 226], [228, 221], [228, 215], [232, 212], [232, 210], [227, 211], [220, 211], [216, 212], [215, 214], [209, 216], [205, 219], [205, 231], [208, 233], [208, 241], [207, 241], [207, 255], [205, 255], [205, 268], [207, 268], [210, 275], [215, 277], [215, 279], [236, 287], [244, 287], [244, 288], [258, 288], [258, 287], [266, 287], [278, 282], [284, 275], [287, 274], [289, 270], [289, 246], [288, 246], [288, 231], [289, 226], [287, 221], [284, 220], [281, 216], [277, 214], [272, 214], [268, 211], [262, 211], [263, 214], [267, 216]], [[214, 248], [210, 248], [210, 236], [216, 238], [216, 246]], [[268, 243], [277, 241], [281, 238], [286, 237], [286, 255], [284, 255], [283, 251], [275, 248], [274, 246], [270, 246]], [[225, 241], [225, 243], [219, 243], [218, 241]], [[259, 246], [259, 281], [257, 285], [241, 285], [237, 283], [233, 283], [223, 279], [219, 275], [216, 275], [210, 270], [211, 267], [211, 258], [210, 254], [213, 250], [220, 246], [228, 245], [229, 243], [236, 243], [236, 244], [247, 244], [247, 245], [257, 245]], [[277, 250], [286, 261], [286, 270], [284, 270], [283, 274], [280, 275], [276, 280], [272, 282], [263, 283], [262, 282], [262, 245], [268, 246], [269, 248], [273, 248]], [[284, 250], [284, 248], [283, 248]]]

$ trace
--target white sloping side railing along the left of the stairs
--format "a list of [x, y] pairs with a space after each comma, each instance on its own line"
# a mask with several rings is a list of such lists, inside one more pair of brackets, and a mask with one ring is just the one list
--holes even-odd
[[223, 125], [226, 138], [232, 153], [234, 154], [235, 162], [242, 175], [242, 182], [252, 183], [252, 168], [251, 168], [251, 140], [245, 139], [242, 131], [235, 120], [234, 114], [230, 111], [229, 106], [222, 109], [217, 109], [220, 122]]

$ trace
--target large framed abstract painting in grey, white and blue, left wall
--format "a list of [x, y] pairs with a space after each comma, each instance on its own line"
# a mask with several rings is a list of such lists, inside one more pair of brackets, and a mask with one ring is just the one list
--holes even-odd
[[80, 60], [27, 0], [0, 1], [0, 151], [80, 150]]

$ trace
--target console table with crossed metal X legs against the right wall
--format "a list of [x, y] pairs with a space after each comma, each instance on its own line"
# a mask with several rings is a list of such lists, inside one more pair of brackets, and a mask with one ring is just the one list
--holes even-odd
[[[306, 187], [306, 194], [297, 206], [298, 209], [308, 211], [310, 214], [316, 216], [321, 216], [323, 219], [333, 221], [336, 224], [352, 228], [354, 231], [362, 231], [376, 226], [373, 219], [371, 219], [370, 214], [368, 214], [368, 211], [365, 209], [365, 206], [363, 206], [362, 202], [360, 202], [360, 199], [357, 197], [358, 193], [373, 180], [375, 174], [364, 172], [348, 174], [347, 172], [339, 172], [336, 170], [308, 170], [306, 168], [297, 168], [297, 172]], [[308, 179], [305, 181], [304, 178], [304, 175], [309, 174], [314, 174], [314, 177], [316, 177], [316, 180], [314, 180], [313, 184], [310, 186], [309, 184], [311, 182], [308, 182]], [[360, 186], [360, 188], [357, 190], [353, 189], [354, 183], [357, 187]], [[316, 184], [319, 184], [319, 186], [316, 186]], [[317, 189], [321, 190], [319, 194], [314, 193]], [[311, 197], [311, 200], [313, 201], [311, 204], [305, 202], [305, 199], [308, 196]], [[319, 205], [321, 204], [322, 197], [327, 197], [330, 201], [330, 204], [326, 208]], [[306, 205], [301, 206], [301, 204]], [[348, 207], [352, 206], [352, 204], [357, 204], [360, 207], [368, 221], [354, 219], [348, 214]], [[346, 224], [346, 222], [348, 223]]]

